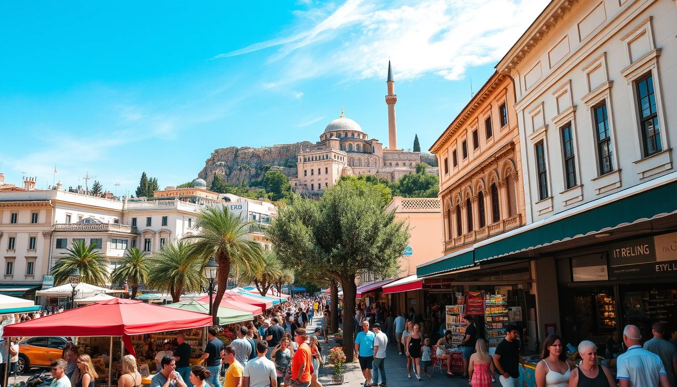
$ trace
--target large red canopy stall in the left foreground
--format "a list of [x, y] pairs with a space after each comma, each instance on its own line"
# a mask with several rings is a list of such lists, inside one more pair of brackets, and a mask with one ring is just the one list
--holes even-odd
[[[177, 329], [193, 329], [199, 333], [202, 327], [211, 325], [212, 318], [202, 313], [116, 298], [58, 314], [50, 314], [41, 319], [7, 325], [3, 331], [3, 337], [70, 336], [82, 338], [87, 336], [97, 338], [89, 341], [89, 348], [93, 348], [92, 344], [105, 348], [102, 342], [106, 340], [100, 339], [105, 337], [108, 339], [107, 373], [108, 386], [110, 386], [114, 369], [112, 354], [117, 353], [114, 352], [114, 344], [119, 346], [121, 355], [123, 346], [128, 352], [135, 354], [132, 340], [139, 338], [139, 335]], [[118, 338], [119, 341], [114, 338]]]

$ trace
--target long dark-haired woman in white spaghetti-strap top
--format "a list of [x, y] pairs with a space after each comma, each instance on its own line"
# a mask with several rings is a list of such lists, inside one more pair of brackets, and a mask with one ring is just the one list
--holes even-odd
[[548, 335], [541, 348], [541, 359], [536, 365], [536, 386], [569, 386], [569, 375], [575, 366], [567, 360], [559, 335]]

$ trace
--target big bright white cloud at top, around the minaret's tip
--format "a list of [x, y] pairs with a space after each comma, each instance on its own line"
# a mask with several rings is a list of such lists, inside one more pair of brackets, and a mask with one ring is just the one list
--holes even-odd
[[324, 17], [310, 28], [255, 43], [236, 56], [276, 47], [269, 62], [282, 62], [274, 85], [327, 74], [346, 80], [383, 78], [387, 58], [395, 79], [433, 73], [460, 79], [468, 67], [494, 63], [507, 52], [548, 0], [424, 0], [376, 3], [348, 0], [335, 7], [297, 12]]

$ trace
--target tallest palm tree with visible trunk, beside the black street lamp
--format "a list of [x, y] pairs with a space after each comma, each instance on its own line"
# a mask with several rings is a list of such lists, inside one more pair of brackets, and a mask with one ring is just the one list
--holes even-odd
[[[204, 209], [195, 224], [200, 233], [184, 238], [194, 242], [192, 250], [202, 258], [203, 264], [211, 257], [219, 264], [218, 288], [213, 302], [213, 305], [219, 305], [228, 286], [231, 265], [240, 272], [256, 271], [263, 266], [263, 249], [247, 235], [254, 223], [242, 220], [225, 206]], [[214, 323], [217, 323], [216, 314]]]

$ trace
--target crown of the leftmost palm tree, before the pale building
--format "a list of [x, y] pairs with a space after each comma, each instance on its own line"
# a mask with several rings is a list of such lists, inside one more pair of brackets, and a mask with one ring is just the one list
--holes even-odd
[[54, 285], [62, 285], [68, 281], [68, 275], [74, 269], [79, 270], [81, 281], [91, 285], [105, 286], [110, 280], [108, 260], [97, 250], [96, 244], [85, 243], [85, 239], [74, 239], [66, 253], [56, 261], [51, 274]]

